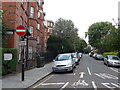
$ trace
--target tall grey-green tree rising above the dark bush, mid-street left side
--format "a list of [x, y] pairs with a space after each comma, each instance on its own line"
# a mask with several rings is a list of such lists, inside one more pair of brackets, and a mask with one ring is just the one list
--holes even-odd
[[73, 49], [72, 51], [83, 51], [84, 47], [86, 47], [85, 40], [79, 38], [78, 29], [75, 28], [74, 23], [71, 20], [65, 20], [62, 18], [58, 19], [55, 23], [54, 29], [56, 30], [58, 37], [64, 38], [64, 41], [71, 45]]

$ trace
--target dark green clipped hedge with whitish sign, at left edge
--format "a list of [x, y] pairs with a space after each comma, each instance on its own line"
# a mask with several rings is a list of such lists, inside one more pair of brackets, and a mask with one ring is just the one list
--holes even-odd
[[[17, 49], [14, 48], [2, 48], [2, 75], [16, 71], [16, 66], [18, 62]], [[12, 53], [12, 60], [5, 61], [4, 53]]]

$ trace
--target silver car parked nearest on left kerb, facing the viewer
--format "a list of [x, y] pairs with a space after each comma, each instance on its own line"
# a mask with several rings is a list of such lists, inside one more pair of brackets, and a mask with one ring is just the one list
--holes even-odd
[[53, 72], [73, 71], [75, 67], [75, 61], [71, 53], [59, 54], [53, 61]]

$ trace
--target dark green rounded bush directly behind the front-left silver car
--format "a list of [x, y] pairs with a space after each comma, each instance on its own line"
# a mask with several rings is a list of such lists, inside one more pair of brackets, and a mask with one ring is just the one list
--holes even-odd
[[70, 42], [68, 40], [66, 40], [64, 38], [60, 38], [58, 36], [51, 36], [48, 39], [48, 48], [47, 49], [56, 54], [73, 51], [73, 47], [71, 46]]

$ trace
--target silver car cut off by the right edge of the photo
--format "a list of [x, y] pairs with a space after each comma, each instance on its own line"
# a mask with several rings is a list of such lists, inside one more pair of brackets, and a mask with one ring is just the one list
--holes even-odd
[[104, 58], [104, 64], [107, 66], [120, 66], [120, 58], [114, 55], [107, 55]]

